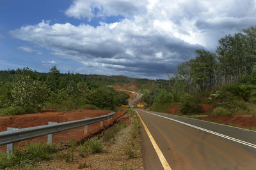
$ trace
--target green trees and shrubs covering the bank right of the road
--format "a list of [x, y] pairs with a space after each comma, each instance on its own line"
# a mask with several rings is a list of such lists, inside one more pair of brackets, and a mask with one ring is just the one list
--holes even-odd
[[[166, 73], [167, 84], [155, 85], [144, 101], [150, 110], [176, 114], [256, 114], [256, 27], [219, 40], [216, 53], [196, 50], [196, 57]], [[205, 106], [212, 106], [206, 110]]]

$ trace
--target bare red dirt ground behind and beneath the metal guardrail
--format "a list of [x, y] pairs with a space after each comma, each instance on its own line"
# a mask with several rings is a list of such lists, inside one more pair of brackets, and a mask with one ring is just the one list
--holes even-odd
[[[47, 125], [48, 122], [69, 122], [72, 120], [80, 120], [86, 117], [100, 117], [101, 115], [108, 115], [111, 111], [108, 110], [76, 110], [76, 111], [61, 111], [61, 112], [44, 112], [33, 113], [26, 115], [18, 115], [12, 117], [0, 117], [0, 132], [6, 131], [7, 127], [25, 128], [39, 125]], [[124, 111], [117, 111], [111, 122], [104, 120], [104, 127], [116, 122], [124, 115]], [[67, 131], [62, 131], [53, 134], [53, 142], [59, 145], [67, 145], [71, 139], [81, 141], [82, 139], [91, 136], [92, 134], [102, 131], [104, 127], [100, 127], [100, 122], [88, 125], [88, 134], [84, 134], [84, 127], [77, 127]], [[40, 136], [38, 138], [21, 141], [21, 146], [30, 142], [46, 142], [47, 136]], [[15, 143], [15, 145], [20, 145]], [[0, 150], [6, 151], [6, 145], [0, 146]]]

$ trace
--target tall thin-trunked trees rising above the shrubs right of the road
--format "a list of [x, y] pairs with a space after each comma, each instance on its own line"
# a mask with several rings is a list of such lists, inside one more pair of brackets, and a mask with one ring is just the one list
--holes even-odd
[[216, 53], [196, 50], [169, 76], [174, 91], [202, 92], [227, 85], [256, 84], [256, 27], [221, 38]]

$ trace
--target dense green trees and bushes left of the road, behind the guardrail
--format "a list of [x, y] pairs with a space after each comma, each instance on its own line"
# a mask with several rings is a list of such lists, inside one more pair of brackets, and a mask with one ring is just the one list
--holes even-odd
[[115, 78], [109, 76], [61, 74], [55, 66], [49, 73], [28, 67], [0, 71], [0, 115], [33, 113], [42, 108], [116, 110], [127, 104], [129, 96], [107, 86], [113, 82]]

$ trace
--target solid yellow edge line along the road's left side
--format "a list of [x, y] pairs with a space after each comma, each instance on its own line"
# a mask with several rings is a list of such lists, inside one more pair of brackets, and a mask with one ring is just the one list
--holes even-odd
[[154, 146], [155, 150], [156, 150], [156, 153], [157, 153], [157, 156], [159, 157], [160, 159], [160, 162], [163, 166], [164, 169], [166, 170], [172, 170], [172, 168], [169, 166], [168, 162], [166, 161], [163, 153], [161, 152], [160, 148], [157, 146], [156, 144], [156, 141], [154, 140], [153, 136], [151, 135], [151, 133], [148, 131], [148, 128], [147, 126], [145, 125], [145, 123], [143, 122], [142, 118], [140, 117], [138, 111], [136, 111], [138, 117], [140, 118], [140, 121], [141, 123], [143, 124], [143, 127], [145, 128], [145, 131], [147, 132], [148, 134], [148, 138], [150, 139], [152, 145]]

